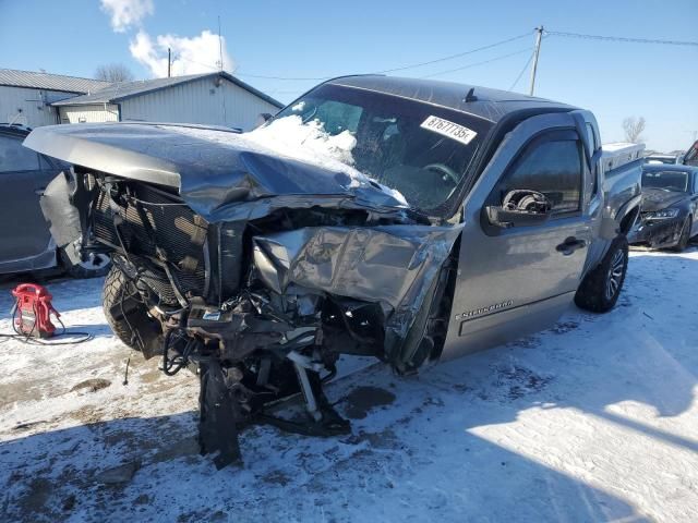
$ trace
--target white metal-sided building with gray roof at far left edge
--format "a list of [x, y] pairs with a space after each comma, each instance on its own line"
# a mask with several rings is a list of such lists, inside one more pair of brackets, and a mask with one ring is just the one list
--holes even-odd
[[110, 85], [98, 80], [0, 69], [0, 122], [38, 127], [60, 123], [51, 104]]

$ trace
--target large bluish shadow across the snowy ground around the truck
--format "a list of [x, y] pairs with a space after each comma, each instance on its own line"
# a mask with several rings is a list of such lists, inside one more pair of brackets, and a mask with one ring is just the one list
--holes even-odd
[[[682, 282], [698, 279], [698, 263], [661, 262], [654, 270], [653, 256], [631, 258], [626, 293], [609, 315], [574, 311], [551, 331], [417, 378], [371, 367], [340, 379], [328, 396], [345, 414], [357, 386], [390, 391], [397, 403], [353, 419], [345, 438], [248, 429], [242, 469], [216, 472], [197, 454], [192, 412], [26, 437], [14, 430], [0, 443], [0, 519], [642, 520], [627, 500], [473, 430], [531, 408], [575, 409], [697, 451], [696, 441], [609, 410], [634, 401], [672, 417], [695, 400], [698, 326], [693, 285]], [[124, 461], [140, 462], [130, 482], [96, 482], [99, 471]]]

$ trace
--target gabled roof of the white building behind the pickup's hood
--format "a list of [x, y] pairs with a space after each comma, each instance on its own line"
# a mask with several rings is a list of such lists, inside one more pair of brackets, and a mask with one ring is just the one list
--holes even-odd
[[204, 74], [189, 74], [185, 76], [172, 76], [169, 78], [153, 78], [153, 80], [139, 80], [135, 82], [120, 82], [116, 84], [111, 84], [104, 89], [100, 89], [91, 95], [76, 96], [74, 98], [69, 98], [67, 100], [56, 101], [51, 104], [52, 106], [87, 106], [93, 104], [113, 104], [123, 101], [128, 98], [133, 98], [134, 96], [141, 96], [148, 93], [154, 93], [161, 89], [167, 89], [169, 87], [173, 87], [176, 85], [182, 85], [190, 82], [194, 82], [202, 78], [221, 76], [229, 82], [232, 82], [239, 87], [252, 93], [253, 95], [262, 98], [265, 101], [268, 101], [273, 106], [278, 108], [284, 107], [280, 101], [275, 100], [268, 95], [265, 95], [258, 89], [255, 89], [249, 84], [245, 84], [239, 78], [236, 78], [229, 73], [218, 72], [218, 73], [204, 73]]

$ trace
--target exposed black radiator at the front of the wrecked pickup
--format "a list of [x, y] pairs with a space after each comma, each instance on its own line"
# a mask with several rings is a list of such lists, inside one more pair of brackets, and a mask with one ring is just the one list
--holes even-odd
[[113, 202], [110, 205], [105, 191], [100, 192], [93, 215], [95, 236], [116, 247], [123, 242], [130, 255], [141, 258], [139, 262], [144, 268], [142, 279], [163, 302], [176, 304], [177, 297], [165, 270], [144, 260], [146, 257], [159, 257], [156, 247], [165, 253], [179, 291], [204, 296], [207, 292], [205, 243], [208, 223], [185, 205], [178, 205], [180, 202], [174, 197], [155, 187], [139, 184], [129, 188], [134, 198], [120, 206], [118, 211], [123, 219], [119, 226], [121, 241], [115, 227]]

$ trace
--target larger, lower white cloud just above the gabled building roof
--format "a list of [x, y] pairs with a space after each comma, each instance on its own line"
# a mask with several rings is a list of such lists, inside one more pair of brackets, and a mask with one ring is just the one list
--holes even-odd
[[192, 38], [177, 35], [159, 35], [153, 38], [140, 31], [129, 50], [133, 58], [151, 70], [153, 76], [167, 76], [167, 49], [172, 50], [172, 76], [183, 74], [210, 73], [220, 69], [220, 47], [222, 46], [222, 69], [233, 71], [234, 63], [226, 49], [226, 40], [218, 41], [218, 35], [203, 31]]

